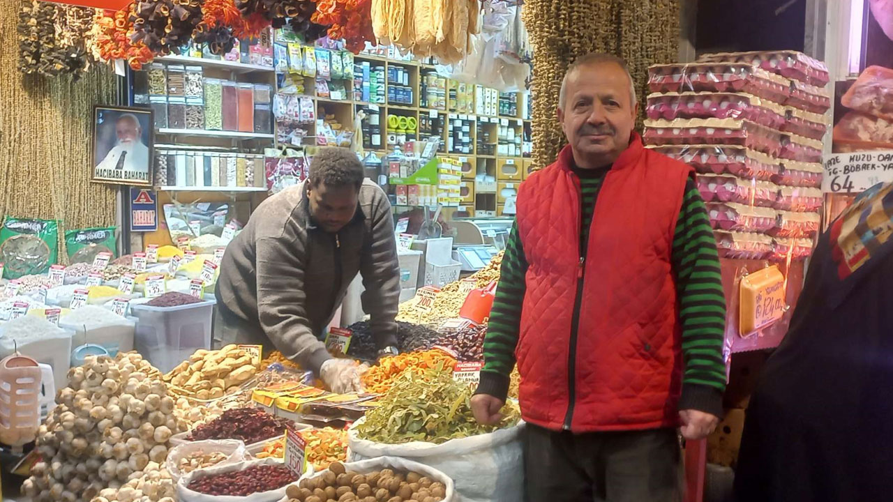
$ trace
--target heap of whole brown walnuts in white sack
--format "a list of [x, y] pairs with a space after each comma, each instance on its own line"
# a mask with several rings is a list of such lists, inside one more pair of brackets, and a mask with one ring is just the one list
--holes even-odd
[[382, 469], [361, 474], [347, 471], [345, 464], [336, 462], [324, 473], [289, 486], [286, 497], [287, 502], [440, 502], [447, 497], [447, 487], [420, 473]]

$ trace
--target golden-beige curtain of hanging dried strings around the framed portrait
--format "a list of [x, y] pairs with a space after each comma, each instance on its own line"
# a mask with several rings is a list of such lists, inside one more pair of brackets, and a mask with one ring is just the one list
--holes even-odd
[[18, 7], [0, 2], [0, 214], [61, 220], [63, 229], [113, 225], [116, 188], [89, 179], [93, 105], [114, 103], [114, 74], [23, 75]]

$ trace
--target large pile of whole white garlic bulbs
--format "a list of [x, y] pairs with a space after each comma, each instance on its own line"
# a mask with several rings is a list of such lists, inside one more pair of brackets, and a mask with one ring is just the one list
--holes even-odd
[[71, 368], [69, 386], [59, 390], [58, 405], [38, 431], [43, 461], [22, 484], [25, 494], [35, 502], [88, 502], [104, 489], [116, 495], [103, 496], [109, 501], [173, 497], [170, 474], [165, 478], [158, 470], [171, 435], [185, 427], [159, 376], [136, 353], [88, 356], [86, 364]]

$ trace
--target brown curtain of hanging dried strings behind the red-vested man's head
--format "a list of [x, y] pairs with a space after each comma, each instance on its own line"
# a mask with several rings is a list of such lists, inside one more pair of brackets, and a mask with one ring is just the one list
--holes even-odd
[[642, 104], [648, 66], [677, 57], [679, 0], [526, 0], [522, 18], [533, 47], [534, 169], [555, 162], [565, 143], [555, 108], [575, 58], [590, 52], [622, 56]]

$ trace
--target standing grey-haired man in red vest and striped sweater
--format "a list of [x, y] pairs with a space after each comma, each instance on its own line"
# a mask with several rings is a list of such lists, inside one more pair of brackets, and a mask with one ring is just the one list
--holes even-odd
[[472, 398], [502, 415], [515, 362], [531, 502], [679, 500], [680, 447], [722, 414], [725, 300], [689, 166], [644, 146], [626, 63], [564, 77], [555, 163], [518, 193]]

